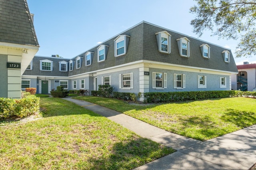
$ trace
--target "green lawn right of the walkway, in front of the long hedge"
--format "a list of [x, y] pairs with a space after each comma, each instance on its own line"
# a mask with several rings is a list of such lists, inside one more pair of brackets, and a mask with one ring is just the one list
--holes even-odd
[[94, 96], [75, 97], [130, 115], [146, 123], [200, 141], [256, 124], [256, 100], [223, 98], [136, 106]]

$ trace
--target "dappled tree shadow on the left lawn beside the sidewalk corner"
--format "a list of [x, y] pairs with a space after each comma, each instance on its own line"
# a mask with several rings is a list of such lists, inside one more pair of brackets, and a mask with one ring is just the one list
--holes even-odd
[[[92, 156], [88, 162], [79, 162], [79, 169], [90, 170], [130, 170], [144, 165], [157, 158], [175, 152], [175, 150], [159, 146], [148, 139], [138, 138], [127, 143], [114, 144], [110, 155]], [[90, 167], [88, 167], [88, 163]]]

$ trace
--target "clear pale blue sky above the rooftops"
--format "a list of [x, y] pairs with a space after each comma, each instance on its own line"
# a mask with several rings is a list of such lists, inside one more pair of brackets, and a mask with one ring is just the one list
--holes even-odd
[[[36, 55], [60, 55], [73, 58], [102, 41], [140, 23], [148, 21], [192, 37], [232, 50], [238, 41], [212, 37], [205, 31], [202, 37], [192, 32], [194, 18], [189, 8], [192, 0], [27, 0], [34, 14], [34, 27], [40, 44]], [[235, 56], [234, 56], [235, 57]], [[235, 58], [256, 63], [256, 57]]]

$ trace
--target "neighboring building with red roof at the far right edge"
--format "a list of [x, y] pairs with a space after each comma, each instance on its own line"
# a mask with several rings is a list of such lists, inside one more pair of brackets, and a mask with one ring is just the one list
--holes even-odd
[[252, 91], [256, 87], [256, 64], [238, 65], [238, 74], [232, 75], [232, 89]]

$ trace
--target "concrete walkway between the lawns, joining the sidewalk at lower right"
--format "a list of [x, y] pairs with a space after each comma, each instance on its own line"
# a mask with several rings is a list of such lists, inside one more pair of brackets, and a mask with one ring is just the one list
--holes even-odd
[[134, 170], [248, 170], [256, 163], [256, 125], [205, 142], [167, 132], [90, 102], [63, 98], [177, 150]]

